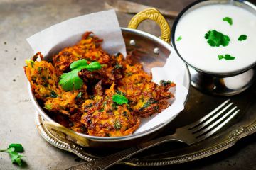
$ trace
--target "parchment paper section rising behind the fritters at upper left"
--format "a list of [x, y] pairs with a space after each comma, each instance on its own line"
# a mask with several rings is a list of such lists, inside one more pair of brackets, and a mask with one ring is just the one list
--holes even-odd
[[102, 48], [108, 53], [122, 52], [126, 56], [124, 38], [114, 10], [71, 18], [32, 35], [27, 41], [34, 53], [52, 56], [64, 47], [75, 45], [86, 31], [102, 38]]

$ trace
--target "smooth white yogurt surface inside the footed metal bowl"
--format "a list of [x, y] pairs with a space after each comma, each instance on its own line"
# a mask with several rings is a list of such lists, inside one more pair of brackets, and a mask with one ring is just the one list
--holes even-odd
[[[223, 18], [233, 19], [233, 25]], [[208, 30], [217, 30], [228, 35], [228, 46], [211, 47], [205, 34]], [[240, 35], [247, 40], [238, 41]], [[176, 41], [178, 37], [182, 39]], [[175, 32], [175, 45], [179, 54], [188, 64], [213, 73], [235, 72], [256, 62], [256, 16], [238, 6], [213, 4], [189, 11], [178, 21]], [[232, 55], [235, 60], [219, 60], [218, 55]]]

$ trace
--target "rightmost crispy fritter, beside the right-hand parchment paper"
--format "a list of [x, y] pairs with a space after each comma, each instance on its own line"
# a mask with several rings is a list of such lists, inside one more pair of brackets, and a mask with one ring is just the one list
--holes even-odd
[[[129, 57], [131, 58], [131, 57]], [[169, 89], [175, 86], [171, 81], [163, 81], [161, 85], [151, 82], [151, 75], [144, 72], [142, 64], [129, 60], [122, 62], [124, 77], [118, 81], [118, 90], [129, 99], [132, 110], [140, 117], [149, 117], [160, 113], [169, 105], [167, 99], [174, 98]]]

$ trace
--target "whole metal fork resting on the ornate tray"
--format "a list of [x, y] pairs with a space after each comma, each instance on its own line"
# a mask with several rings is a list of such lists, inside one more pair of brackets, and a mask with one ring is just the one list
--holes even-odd
[[117, 152], [114, 154], [110, 154], [106, 157], [92, 160], [90, 162], [84, 162], [82, 164], [72, 166], [67, 170], [107, 169], [113, 164], [122, 161], [123, 159], [127, 159], [128, 157], [131, 157], [134, 154], [137, 154], [145, 149], [149, 149], [150, 147], [154, 147], [164, 142], [180, 141], [188, 145], [191, 145], [202, 140], [205, 140], [206, 138], [210, 137], [215, 132], [220, 130], [220, 128], [223, 128], [223, 126], [227, 124], [240, 111], [237, 109], [237, 106], [233, 106], [230, 110], [228, 110], [228, 108], [230, 108], [230, 106], [233, 105], [233, 103], [230, 103], [229, 101], [230, 99], [223, 102], [222, 104], [220, 104], [220, 106], [215, 108], [213, 111], [205, 115], [200, 120], [197, 120], [196, 122], [191, 123], [190, 125], [177, 128], [176, 132], [173, 135], [159, 137], [155, 140], [150, 140], [149, 142], [139, 144], [135, 147], [124, 149], [121, 152]]

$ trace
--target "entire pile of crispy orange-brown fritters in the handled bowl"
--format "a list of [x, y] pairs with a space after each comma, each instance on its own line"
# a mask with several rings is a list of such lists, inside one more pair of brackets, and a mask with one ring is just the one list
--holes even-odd
[[[25, 73], [36, 98], [61, 125], [94, 136], [131, 135], [139, 127], [139, 117], [160, 113], [170, 105], [167, 100], [174, 95], [169, 89], [175, 84], [155, 84], [132, 56], [124, 59], [120, 53], [108, 55], [100, 47], [101, 42], [87, 32], [76, 45], [53, 56], [53, 63], [44, 61], [38, 52], [26, 61]], [[38, 56], [41, 62], [36, 61]], [[82, 69], [78, 72], [82, 88], [64, 91], [58, 84], [60, 76], [80, 59], [100, 62], [102, 68], [92, 72]], [[122, 94], [129, 102], [118, 105], [112, 100], [114, 94]]]

